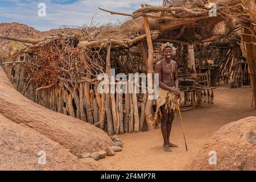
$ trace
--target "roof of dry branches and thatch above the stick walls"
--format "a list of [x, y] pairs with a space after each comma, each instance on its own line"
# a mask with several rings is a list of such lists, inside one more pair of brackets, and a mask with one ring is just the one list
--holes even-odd
[[[17, 54], [34, 52], [44, 44], [56, 39], [69, 39], [76, 37], [78, 46], [102, 47], [109, 40], [113, 47], [136, 46], [141, 40], [146, 39], [143, 27], [143, 17], [148, 18], [152, 39], [154, 42], [174, 42], [179, 44], [195, 44], [199, 42], [213, 42], [224, 38], [233, 31], [240, 30], [243, 25], [240, 22], [255, 22], [255, 14], [251, 11], [251, 1], [184, 1], [173, 2], [166, 7], [142, 5], [141, 9], [133, 14], [107, 11], [111, 14], [130, 16], [133, 19], [118, 26], [85, 27], [81, 33], [59, 34], [49, 36], [43, 42], [28, 46]], [[217, 8], [216, 16], [209, 16], [209, 11]], [[220, 28], [221, 27], [221, 28]], [[222, 31], [220, 31], [222, 30]], [[77, 31], [76, 31], [77, 32]]]

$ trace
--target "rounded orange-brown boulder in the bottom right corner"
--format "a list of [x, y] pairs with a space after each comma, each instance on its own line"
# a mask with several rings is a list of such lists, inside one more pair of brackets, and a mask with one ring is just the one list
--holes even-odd
[[240, 119], [222, 126], [205, 144], [188, 169], [256, 170], [256, 117]]

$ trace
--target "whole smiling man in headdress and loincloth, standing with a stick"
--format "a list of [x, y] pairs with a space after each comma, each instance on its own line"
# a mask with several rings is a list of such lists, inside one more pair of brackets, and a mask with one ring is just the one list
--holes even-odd
[[[170, 147], [178, 147], [170, 142], [174, 112], [180, 100], [179, 81], [177, 79], [177, 63], [171, 59], [175, 48], [170, 43], [162, 46], [164, 59], [156, 63], [155, 73], [159, 74], [159, 97], [156, 100], [156, 114], [160, 114], [161, 131], [164, 140], [164, 151], [171, 152]], [[155, 117], [156, 118], [156, 117]]]

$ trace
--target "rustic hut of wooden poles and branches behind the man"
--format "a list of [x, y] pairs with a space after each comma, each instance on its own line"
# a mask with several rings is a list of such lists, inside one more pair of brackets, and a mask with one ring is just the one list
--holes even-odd
[[[192, 107], [196, 102], [199, 106], [201, 102], [213, 104], [214, 85], [226, 73], [231, 76], [229, 65], [240, 59], [237, 49], [248, 64], [255, 98], [254, 1], [164, 1], [162, 7], [142, 5], [133, 14], [100, 9], [131, 19], [118, 26], [63, 29], [40, 42], [26, 41], [26, 47], [10, 52], [9, 63], [13, 64], [5, 64], [15, 87], [36, 103], [96, 125], [109, 135], [138, 132], [145, 126], [152, 129], [154, 100], [148, 98], [154, 93], [101, 93], [97, 78], [102, 73], [110, 78], [111, 68], [127, 76], [154, 76], [154, 64], [162, 57], [159, 46], [171, 42], [183, 68], [184, 102], [191, 100]], [[220, 46], [228, 37], [236, 40], [236, 49], [223, 49], [212, 65], [196, 64], [197, 55], [191, 50]], [[118, 81], [107, 85], [118, 85]]]

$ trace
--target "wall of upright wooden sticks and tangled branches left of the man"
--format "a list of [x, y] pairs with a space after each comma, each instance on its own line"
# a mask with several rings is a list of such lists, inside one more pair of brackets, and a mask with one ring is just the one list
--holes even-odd
[[[109, 75], [116, 60], [119, 67], [127, 59], [134, 64], [141, 62], [133, 53], [128, 52], [130, 56], [123, 60], [114, 57], [117, 52], [110, 51], [110, 47], [81, 49], [74, 36], [59, 37], [35, 50], [23, 50], [26, 53], [15, 56], [19, 62], [22, 57], [22, 64], [14, 64], [14, 69], [22, 73], [13, 73], [13, 82], [22, 82], [16, 88], [25, 96], [48, 109], [96, 125], [110, 135], [142, 131], [146, 94], [100, 94], [98, 90], [97, 76]], [[128, 72], [133, 72], [133, 67]]]

